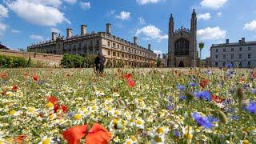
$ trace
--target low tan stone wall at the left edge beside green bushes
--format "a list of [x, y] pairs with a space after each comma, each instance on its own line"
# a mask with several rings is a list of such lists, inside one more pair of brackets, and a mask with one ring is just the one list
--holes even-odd
[[38, 61], [46, 63], [47, 66], [56, 66], [59, 67], [61, 60], [63, 58], [62, 55], [56, 54], [34, 54], [31, 52], [23, 52], [17, 50], [0, 50], [0, 54], [9, 55], [9, 56], [16, 56], [22, 58], [31, 58], [32, 61]]

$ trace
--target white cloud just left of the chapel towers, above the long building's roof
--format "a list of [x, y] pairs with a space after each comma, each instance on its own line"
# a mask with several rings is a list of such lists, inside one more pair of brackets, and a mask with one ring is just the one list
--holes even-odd
[[162, 31], [160, 29], [158, 29], [158, 27], [156, 26], [144, 26], [142, 27], [142, 29], [138, 29], [136, 31], [136, 35], [138, 34], [144, 34], [146, 36], [146, 38], [150, 38], [150, 39], [157, 39], [158, 42], [160, 42], [162, 39], [167, 39], [168, 35], [162, 35], [161, 34]]

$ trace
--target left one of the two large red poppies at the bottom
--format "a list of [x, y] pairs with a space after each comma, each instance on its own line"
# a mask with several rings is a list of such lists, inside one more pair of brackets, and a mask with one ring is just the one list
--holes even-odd
[[79, 144], [80, 139], [86, 135], [87, 126], [74, 126], [62, 133], [68, 144]]

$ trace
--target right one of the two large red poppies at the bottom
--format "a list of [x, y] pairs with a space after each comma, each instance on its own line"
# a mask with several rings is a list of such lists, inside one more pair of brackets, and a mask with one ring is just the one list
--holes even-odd
[[95, 123], [86, 136], [86, 144], [108, 144], [111, 134], [103, 126]]

